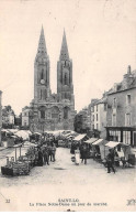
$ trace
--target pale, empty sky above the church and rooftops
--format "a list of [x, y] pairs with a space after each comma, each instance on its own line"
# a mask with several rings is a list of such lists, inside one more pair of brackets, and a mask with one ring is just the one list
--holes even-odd
[[101, 98], [136, 69], [135, 0], [0, 0], [2, 106], [16, 115], [34, 97], [34, 60], [42, 24], [56, 93], [57, 61], [66, 31], [73, 64], [75, 108]]

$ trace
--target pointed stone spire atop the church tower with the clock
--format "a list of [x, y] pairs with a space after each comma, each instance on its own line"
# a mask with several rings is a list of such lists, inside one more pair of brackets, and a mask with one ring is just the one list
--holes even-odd
[[46, 43], [45, 43], [45, 36], [44, 36], [43, 25], [42, 25], [41, 36], [39, 36], [38, 47], [37, 47], [37, 54], [38, 53], [46, 54], [47, 55], [47, 49], [46, 49]]

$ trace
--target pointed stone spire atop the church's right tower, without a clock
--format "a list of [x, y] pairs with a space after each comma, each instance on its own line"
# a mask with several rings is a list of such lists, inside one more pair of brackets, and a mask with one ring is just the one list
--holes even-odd
[[64, 36], [63, 36], [61, 51], [60, 51], [59, 60], [69, 60], [65, 30], [64, 30]]

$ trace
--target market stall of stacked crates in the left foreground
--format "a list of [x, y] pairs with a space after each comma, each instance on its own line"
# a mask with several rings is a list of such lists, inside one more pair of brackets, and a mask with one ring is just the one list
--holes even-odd
[[38, 164], [38, 146], [31, 142], [15, 144], [14, 154], [7, 157], [7, 164], [1, 166], [4, 175], [26, 175], [31, 169]]

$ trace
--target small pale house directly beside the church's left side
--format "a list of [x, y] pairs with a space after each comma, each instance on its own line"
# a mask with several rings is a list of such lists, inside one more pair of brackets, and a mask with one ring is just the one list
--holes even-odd
[[21, 126], [24, 128], [30, 128], [30, 114], [31, 114], [30, 107], [25, 106], [22, 109], [22, 123], [21, 123]]

